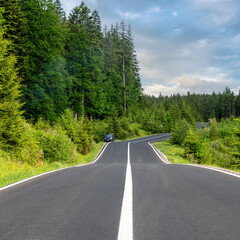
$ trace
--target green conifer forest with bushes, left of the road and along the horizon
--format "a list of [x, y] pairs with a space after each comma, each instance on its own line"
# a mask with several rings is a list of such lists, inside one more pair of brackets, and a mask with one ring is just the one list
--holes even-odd
[[240, 93], [228, 87], [147, 96], [139, 70], [124, 21], [102, 26], [84, 2], [66, 16], [59, 0], [0, 0], [1, 161], [75, 162], [109, 132], [121, 140], [240, 116]]

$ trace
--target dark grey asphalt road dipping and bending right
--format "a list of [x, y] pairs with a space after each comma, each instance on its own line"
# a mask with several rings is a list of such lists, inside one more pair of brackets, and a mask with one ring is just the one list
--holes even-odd
[[0, 240], [120, 240], [129, 164], [124, 240], [240, 239], [240, 178], [163, 163], [148, 142], [167, 137], [110, 143], [92, 165], [0, 191]]

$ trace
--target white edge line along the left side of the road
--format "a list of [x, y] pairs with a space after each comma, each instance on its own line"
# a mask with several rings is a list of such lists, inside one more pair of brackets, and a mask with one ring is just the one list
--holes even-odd
[[68, 168], [74, 168], [74, 167], [84, 167], [84, 166], [87, 166], [87, 165], [91, 165], [91, 164], [94, 164], [96, 161], [98, 161], [98, 159], [102, 156], [103, 152], [105, 151], [106, 147], [108, 146], [109, 143], [107, 143], [105, 145], [105, 147], [103, 148], [102, 152], [99, 154], [99, 156], [91, 163], [87, 163], [87, 164], [82, 164], [82, 165], [77, 165], [77, 166], [73, 166], [73, 167], [65, 167], [65, 168], [60, 168], [60, 169], [57, 169], [57, 170], [53, 170], [53, 171], [50, 171], [50, 172], [45, 172], [45, 173], [41, 173], [41, 174], [38, 174], [36, 176], [33, 176], [33, 177], [30, 177], [30, 178], [26, 178], [26, 179], [23, 179], [21, 181], [18, 181], [18, 182], [15, 182], [15, 183], [12, 183], [12, 184], [9, 184], [5, 187], [1, 187], [0, 188], [0, 191], [3, 191], [5, 189], [8, 189], [8, 188], [11, 188], [11, 187], [14, 187], [18, 184], [21, 184], [21, 183], [24, 183], [24, 182], [28, 182], [30, 180], [33, 180], [35, 178], [39, 178], [41, 176], [44, 176], [44, 175], [47, 175], [47, 174], [50, 174], [50, 173], [54, 173], [54, 172], [58, 172], [58, 171], [62, 171], [62, 170], [65, 170], [65, 169], [68, 169]]

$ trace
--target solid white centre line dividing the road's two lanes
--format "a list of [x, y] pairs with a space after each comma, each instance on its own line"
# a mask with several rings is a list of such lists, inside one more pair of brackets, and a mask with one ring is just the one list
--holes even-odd
[[132, 171], [130, 163], [130, 142], [128, 143], [128, 161], [125, 188], [123, 194], [122, 211], [118, 230], [118, 240], [133, 239], [133, 207], [132, 207]]

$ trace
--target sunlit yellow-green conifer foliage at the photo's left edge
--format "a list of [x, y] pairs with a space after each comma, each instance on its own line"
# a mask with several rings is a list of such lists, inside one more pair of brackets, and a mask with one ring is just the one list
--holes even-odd
[[4, 32], [0, 26], [0, 147], [11, 152], [18, 161], [34, 165], [41, 161], [41, 151], [22, 117], [17, 61], [9, 52], [11, 43], [3, 38]]

